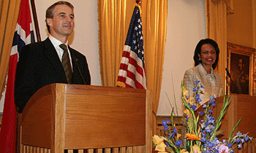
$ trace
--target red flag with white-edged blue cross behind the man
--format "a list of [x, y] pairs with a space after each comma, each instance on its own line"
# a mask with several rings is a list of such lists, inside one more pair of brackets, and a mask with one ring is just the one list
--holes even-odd
[[0, 152], [15, 152], [17, 122], [17, 112], [14, 102], [15, 72], [18, 63], [18, 53], [21, 48], [26, 44], [34, 42], [34, 31], [32, 29], [29, 0], [21, 0], [18, 22], [13, 36], [12, 51], [10, 54], [0, 133]]

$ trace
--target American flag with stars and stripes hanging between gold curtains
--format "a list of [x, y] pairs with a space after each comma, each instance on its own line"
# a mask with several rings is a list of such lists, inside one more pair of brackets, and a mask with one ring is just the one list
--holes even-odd
[[138, 5], [135, 6], [132, 20], [129, 24], [127, 40], [118, 72], [117, 86], [146, 89], [143, 32], [139, 7]]

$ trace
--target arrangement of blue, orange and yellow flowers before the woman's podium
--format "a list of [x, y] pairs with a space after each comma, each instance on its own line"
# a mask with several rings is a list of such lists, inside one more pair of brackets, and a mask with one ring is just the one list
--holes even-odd
[[186, 123], [186, 134], [183, 136], [181, 133], [177, 133], [177, 129], [173, 123], [173, 110], [171, 112], [170, 120], [162, 121], [164, 131], [167, 132], [165, 136], [154, 136], [153, 143], [155, 150], [159, 153], [210, 153], [210, 152], [229, 152], [233, 153], [232, 147], [237, 144], [238, 149], [241, 149], [242, 144], [246, 141], [252, 141], [252, 138], [247, 134], [240, 132], [233, 136], [234, 130], [238, 126], [241, 119], [235, 127], [228, 140], [220, 140], [217, 136], [222, 133], [219, 131], [219, 127], [222, 123], [222, 118], [227, 111], [227, 106], [230, 103], [230, 96], [225, 96], [223, 99], [223, 106], [219, 113], [219, 117], [215, 119], [212, 116], [212, 109], [216, 106], [216, 96], [211, 95], [210, 101], [203, 104], [203, 111], [198, 114], [195, 110], [200, 106], [200, 89], [203, 88], [199, 81], [195, 82], [194, 97], [188, 95], [188, 91], [181, 83], [182, 101], [185, 106], [184, 114]]

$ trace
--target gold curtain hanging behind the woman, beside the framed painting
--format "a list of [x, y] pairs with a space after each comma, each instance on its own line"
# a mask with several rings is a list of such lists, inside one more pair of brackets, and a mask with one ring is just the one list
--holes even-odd
[[[233, 13], [233, 0], [205, 0], [206, 25], [208, 38], [219, 44], [219, 63], [217, 72], [222, 76], [223, 87], [226, 85], [227, 66], [227, 14]], [[225, 89], [225, 88], [224, 88]]]

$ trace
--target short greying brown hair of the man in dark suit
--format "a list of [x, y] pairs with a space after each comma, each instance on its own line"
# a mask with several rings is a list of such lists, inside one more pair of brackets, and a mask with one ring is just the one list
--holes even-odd
[[57, 1], [56, 3], [54, 3], [50, 7], [48, 7], [48, 9], [46, 10], [46, 13], [45, 13], [45, 22], [46, 22], [46, 26], [47, 26], [47, 29], [48, 29], [49, 33], [50, 33], [50, 26], [48, 26], [46, 19], [48, 19], [48, 18], [52, 19], [53, 18], [54, 9], [57, 5], [67, 5], [72, 10], [74, 10], [74, 6], [71, 3], [69, 3], [68, 1]]

